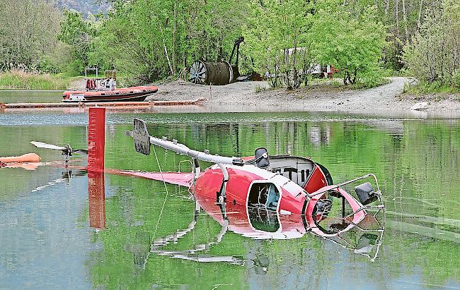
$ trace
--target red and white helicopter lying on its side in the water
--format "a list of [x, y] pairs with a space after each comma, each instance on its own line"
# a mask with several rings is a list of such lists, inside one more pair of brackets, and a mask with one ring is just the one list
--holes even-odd
[[[311, 232], [366, 255], [369, 247], [357, 251], [344, 236], [348, 231], [376, 231], [379, 238], [371, 240], [378, 252], [384, 205], [374, 174], [334, 185], [326, 167], [309, 158], [269, 157], [265, 148], [255, 150], [255, 157], [210, 155], [177, 140], [152, 137], [139, 119], [134, 119], [134, 130], [126, 133], [133, 137], [137, 152], [144, 155], [149, 155], [152, 144], [192, 157], [193, 171], [125, 174], [187, 186], [197, 208], [204, 208], [226, 229], [251, 238], [298, 238]], [[214, 165], [201, 171], [199, 160]], [[371, 183], [362, 183], [355, 187], [357, 198], [341, 188], [367, 178], [373, 179], [376, 190]]]

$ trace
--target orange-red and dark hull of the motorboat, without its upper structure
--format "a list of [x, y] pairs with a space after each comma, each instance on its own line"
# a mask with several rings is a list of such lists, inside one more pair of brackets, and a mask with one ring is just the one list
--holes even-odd
[[118, 90], [84, 92], [66, 91], [62, 102], [142, 102], [158, 91], [158, 87], [125, 87]]

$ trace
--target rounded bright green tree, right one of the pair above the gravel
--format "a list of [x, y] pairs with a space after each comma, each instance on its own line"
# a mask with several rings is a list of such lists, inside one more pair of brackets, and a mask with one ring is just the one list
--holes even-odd
[[345, 84], [381, 83], [386, 32], [376, 7], [365, 7], [360, 16], [355, 16], [338, 1], [326, 0], [323, 5], [315, 13], [311, 34], [318, 62], [335, 66]]

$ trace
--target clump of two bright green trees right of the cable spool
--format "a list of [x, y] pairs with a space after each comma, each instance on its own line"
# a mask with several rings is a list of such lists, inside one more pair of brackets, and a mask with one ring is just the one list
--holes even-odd
[[282, 76], [288, 88], [299, 87], [316, 63], [335, 66], [345, 84], [381, 84], [385, 27], [375, 6], [354, 8], [335, 0], [252, 1], [245, 49], [253, 68], [268, 72], [272, 86]]

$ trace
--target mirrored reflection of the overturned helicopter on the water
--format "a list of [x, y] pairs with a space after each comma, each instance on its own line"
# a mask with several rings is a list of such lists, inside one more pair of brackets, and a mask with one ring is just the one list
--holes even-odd
[[[333, 200], [333, 207], [326, 215], [324, 213], [319, 215], [318, 212], [321, 209], [316, 209], [316, 215], [313, 216], [316, 229], [308, 226], [309, 219], [303, 215], [282, 215], [282, 213], [265, 206], [246, 206], [236, 203], [219, 204], [211, 199], [195, 200], [195, 214], [186, 229], [159, 238], [151, 242], [150, 245], [149, 234], [139, 232], [136, 234], [136, 241], [128, 247], [128, 250], [133, 253], [134, 265], [141, 269], [144, 269], [149, 255], [155, 253], [156, 255], [197, 262], [227, 262], [234, 265], [245, 265], [245, 262], [250, 262], [255, 267], [255, 271], [263, 273], [268, 270], [270, 263], [265, 255], [243, 258], [236, 255], [208, 255], [207, 252], [212, 246], [222, 241], [227, 231], [256, 240], [301, 238], [306, 233], [311, 232], [374, 261], [379, 253], [384, 233], [384, 226], [381, 224], [383, 217], [379, 218], [377, 215], [367, 214], [359, 224], [352, 224], [352, 219], [347, 217], [350, 215], [351, 209], [347, 208], [346, 204], [345, 206], [344, 204], [340, 205], [340, 198], [332, 196], [328, 198]], [[342, 209], [345, 212], [342, 212]], [[202, 210], [222, 226], [215, 238], [207, 243], [197, 244], [188, 250], [163, 249], [168, 244], [178, 243], [181, 237], [193, 231], [200, 215], [202, 215]], [[348, 226], [350, 226], [349, 230], [343, 231]]]

